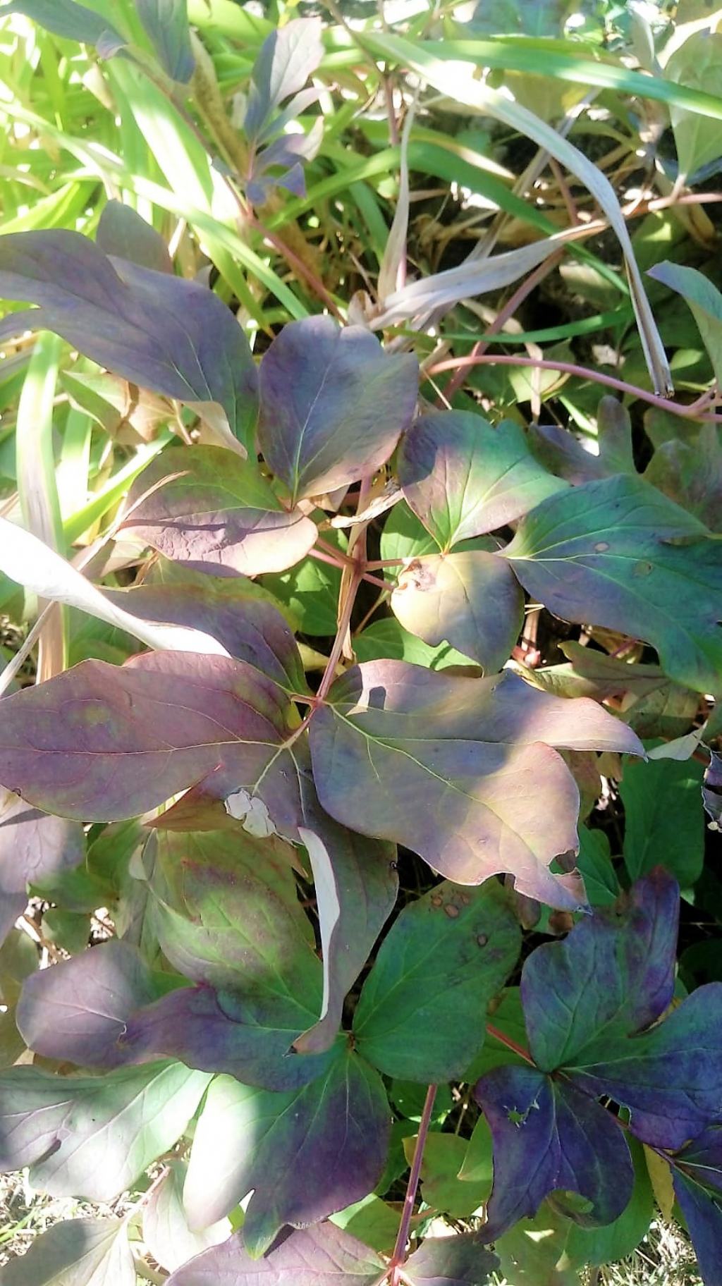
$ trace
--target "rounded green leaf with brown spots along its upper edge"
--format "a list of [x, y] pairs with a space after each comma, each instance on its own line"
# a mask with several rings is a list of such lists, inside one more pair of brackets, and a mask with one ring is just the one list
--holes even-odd
[[436, 885], [403, 909], [381, 945], [354, 1013], [359, 1053], [389, 1076], [461, 1080], [520, 948], [498, 883]]

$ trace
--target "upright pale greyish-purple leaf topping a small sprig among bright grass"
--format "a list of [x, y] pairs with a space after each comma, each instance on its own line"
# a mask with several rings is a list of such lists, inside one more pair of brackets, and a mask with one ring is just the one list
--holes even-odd
[[277, 108], [304, 89], [323, 58], [319, 18], [296, 18], [272, 31], [254, 64], [243, 129], [259, 139]]

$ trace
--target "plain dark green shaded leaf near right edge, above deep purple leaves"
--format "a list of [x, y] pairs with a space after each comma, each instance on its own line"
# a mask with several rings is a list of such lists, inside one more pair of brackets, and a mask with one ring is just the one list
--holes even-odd
[[631, 880], [660, 863], [682, 889], [704, 865], [704, 765], [694, 759], [650, 759], [624, 768], [624, 863]]

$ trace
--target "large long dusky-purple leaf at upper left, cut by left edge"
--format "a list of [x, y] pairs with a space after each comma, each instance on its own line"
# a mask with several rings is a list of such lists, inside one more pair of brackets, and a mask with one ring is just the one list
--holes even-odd
[[197, 282], [111, 260], [67, 230], [0, 238], [0, 296], [39, 305], [13, 312], [0, 337], [53, 331], [131, 383], [185, 403], [218, 403], [252, 449], [257, 374], [229, 309]]

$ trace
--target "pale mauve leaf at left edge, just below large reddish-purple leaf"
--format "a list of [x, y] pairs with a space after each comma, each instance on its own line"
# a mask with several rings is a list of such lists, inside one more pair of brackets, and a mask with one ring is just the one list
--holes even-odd
[[28, 808], [0, 787], [0, 945], [27, 905], [27, 885], [69, 871], [84, 856], [77, 822]]

